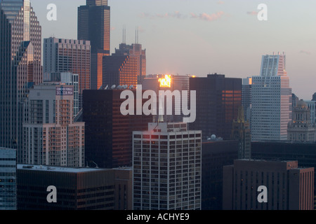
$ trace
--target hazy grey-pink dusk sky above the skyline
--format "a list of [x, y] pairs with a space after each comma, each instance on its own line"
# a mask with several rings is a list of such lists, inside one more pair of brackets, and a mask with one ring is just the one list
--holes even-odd
[[[77, 38], [77, 7], [85, 0], [31, 0], [43, 38]], [[49, 3], [57, 20], [48, 21]], [[268, 20], [258, 20], [260, 3]], [[108, 0], [111, 52], [123, 41], [146, 49], [147, 74], [228, 78], [258, 76], [262, 55], [287, 55], [292, 92], [316, 92], [316, 1], [311, 0]]]

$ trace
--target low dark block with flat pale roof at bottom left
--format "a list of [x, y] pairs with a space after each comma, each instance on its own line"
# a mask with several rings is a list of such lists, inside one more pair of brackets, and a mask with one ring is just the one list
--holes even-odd
[[[18, 164], [18, 210], [114, 210], [115, 172]], [[48, 186], [56, 202], [48, 203]]]

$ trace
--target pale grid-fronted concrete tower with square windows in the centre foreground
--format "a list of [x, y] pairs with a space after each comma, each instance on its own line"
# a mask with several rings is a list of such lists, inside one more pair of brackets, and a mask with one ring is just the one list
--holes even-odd
[[201, 209], [201, 131], [150, 123], [133, 132], [133, 209]]

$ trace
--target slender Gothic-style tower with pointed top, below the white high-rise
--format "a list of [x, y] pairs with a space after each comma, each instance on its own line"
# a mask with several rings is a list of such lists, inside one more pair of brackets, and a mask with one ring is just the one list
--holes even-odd
[[239, 108], [238, 118], [232, 123], [232, 140], [238, 141], [238, 158], [251, 159], [251, 134], [250, 123], [244, 120], [244, 110]]

